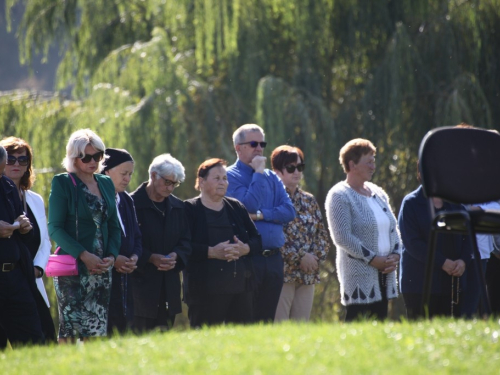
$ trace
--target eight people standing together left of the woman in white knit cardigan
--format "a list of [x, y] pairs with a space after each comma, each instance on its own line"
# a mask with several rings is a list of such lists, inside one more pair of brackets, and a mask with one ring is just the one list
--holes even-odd
[[[304, 155], [281, 146], [271, 171], [262, 128], [244, 125], [233, 142], [236, 163], [203, 162], [200, 195], [183, 202], [172, 193], [185, 170], [170, 154], [154, 158], [148, 180], [128, 194], [132, 155], [78, 130], [66, 145], [67, 172], [52, 180], [47, 220], [42, 198], [30, 191], [31, 147], [4, 139], [0, 299], [12, 309], [0, 312], [0, 343], [169, 329], [182, 311], [181, 271], [192, 327], [309, 319], [329, 242], [316, 200], [299, 188]], [[76, 276], [54, 277], [57, 335], [41, 279], [50, 239], [78, 268]], [[14, 288], [16, 280], [23, 282]]]

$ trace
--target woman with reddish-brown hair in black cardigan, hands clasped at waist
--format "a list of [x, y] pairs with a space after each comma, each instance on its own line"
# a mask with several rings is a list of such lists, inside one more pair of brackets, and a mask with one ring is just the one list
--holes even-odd
[[262, 240], [243, 204], [225, 197], [226, 165], [222, 159], [202, 163], [195, 186], [201, 194], [185, 202], [193, 253], [184, 286], [192, 327], [253, 319], [250, 258], [262, 251]]

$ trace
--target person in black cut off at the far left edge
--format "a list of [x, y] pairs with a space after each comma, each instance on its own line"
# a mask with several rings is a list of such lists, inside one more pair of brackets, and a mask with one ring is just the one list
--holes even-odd
[[[0, 331], [12, 346], [43, 343], [33, 261], [23, 243], [32, 227], [16, 185], [3, 176], [6, 162], [7, 152], [0, 146]], [[0, 350], [7, 344], [5, 337]]]

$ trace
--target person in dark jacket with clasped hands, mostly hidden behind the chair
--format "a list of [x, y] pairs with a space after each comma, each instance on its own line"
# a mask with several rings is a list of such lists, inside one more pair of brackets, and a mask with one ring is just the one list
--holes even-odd
[[[459, 205], [433, 198], [436, 211], [460, 209]], [[422, 318], [422, 293], [425, 262], [431, 230], [429, 200], [422, 186], [408, 194], [399, 211], [399, 228], [403, 239], [400, 285], [408, 319]], [[429, 317], [459, 316], [459, 290], [465, 288], [461, 277], [472, 252], [469, 241], [460, 234], [438, 234], [432, 273]], [[453, 306], [453, 307], [452, 307]]]

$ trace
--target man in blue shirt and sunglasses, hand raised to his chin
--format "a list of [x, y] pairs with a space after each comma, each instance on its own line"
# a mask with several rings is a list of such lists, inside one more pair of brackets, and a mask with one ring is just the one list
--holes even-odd
[[279, 177], [266, 169], [262, 155], [264, 131], [255, 124], [240, 126], [233, 134], [238, 159], [227, 169], [227, 196], [242, 202], [262, 236], [262, 253], [253, 257], [257, 289], [253, 315], [256, 322], [274, 320], [283, 286], [285, 243], [283, 224], [295, 218], [295, 209]]

